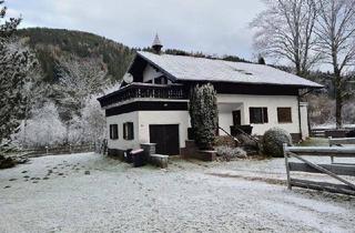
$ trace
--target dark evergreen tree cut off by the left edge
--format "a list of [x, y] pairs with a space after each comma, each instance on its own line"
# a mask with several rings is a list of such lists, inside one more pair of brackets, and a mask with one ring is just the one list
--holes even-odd
[[[3, 1], [0, 1], [0, 7]], [[0, 11], [0, 146], [19, 126], [26, 109], [24, 85], [34, 58], [13, 33], [21, 19], [6, 19], [7, 8]]]

